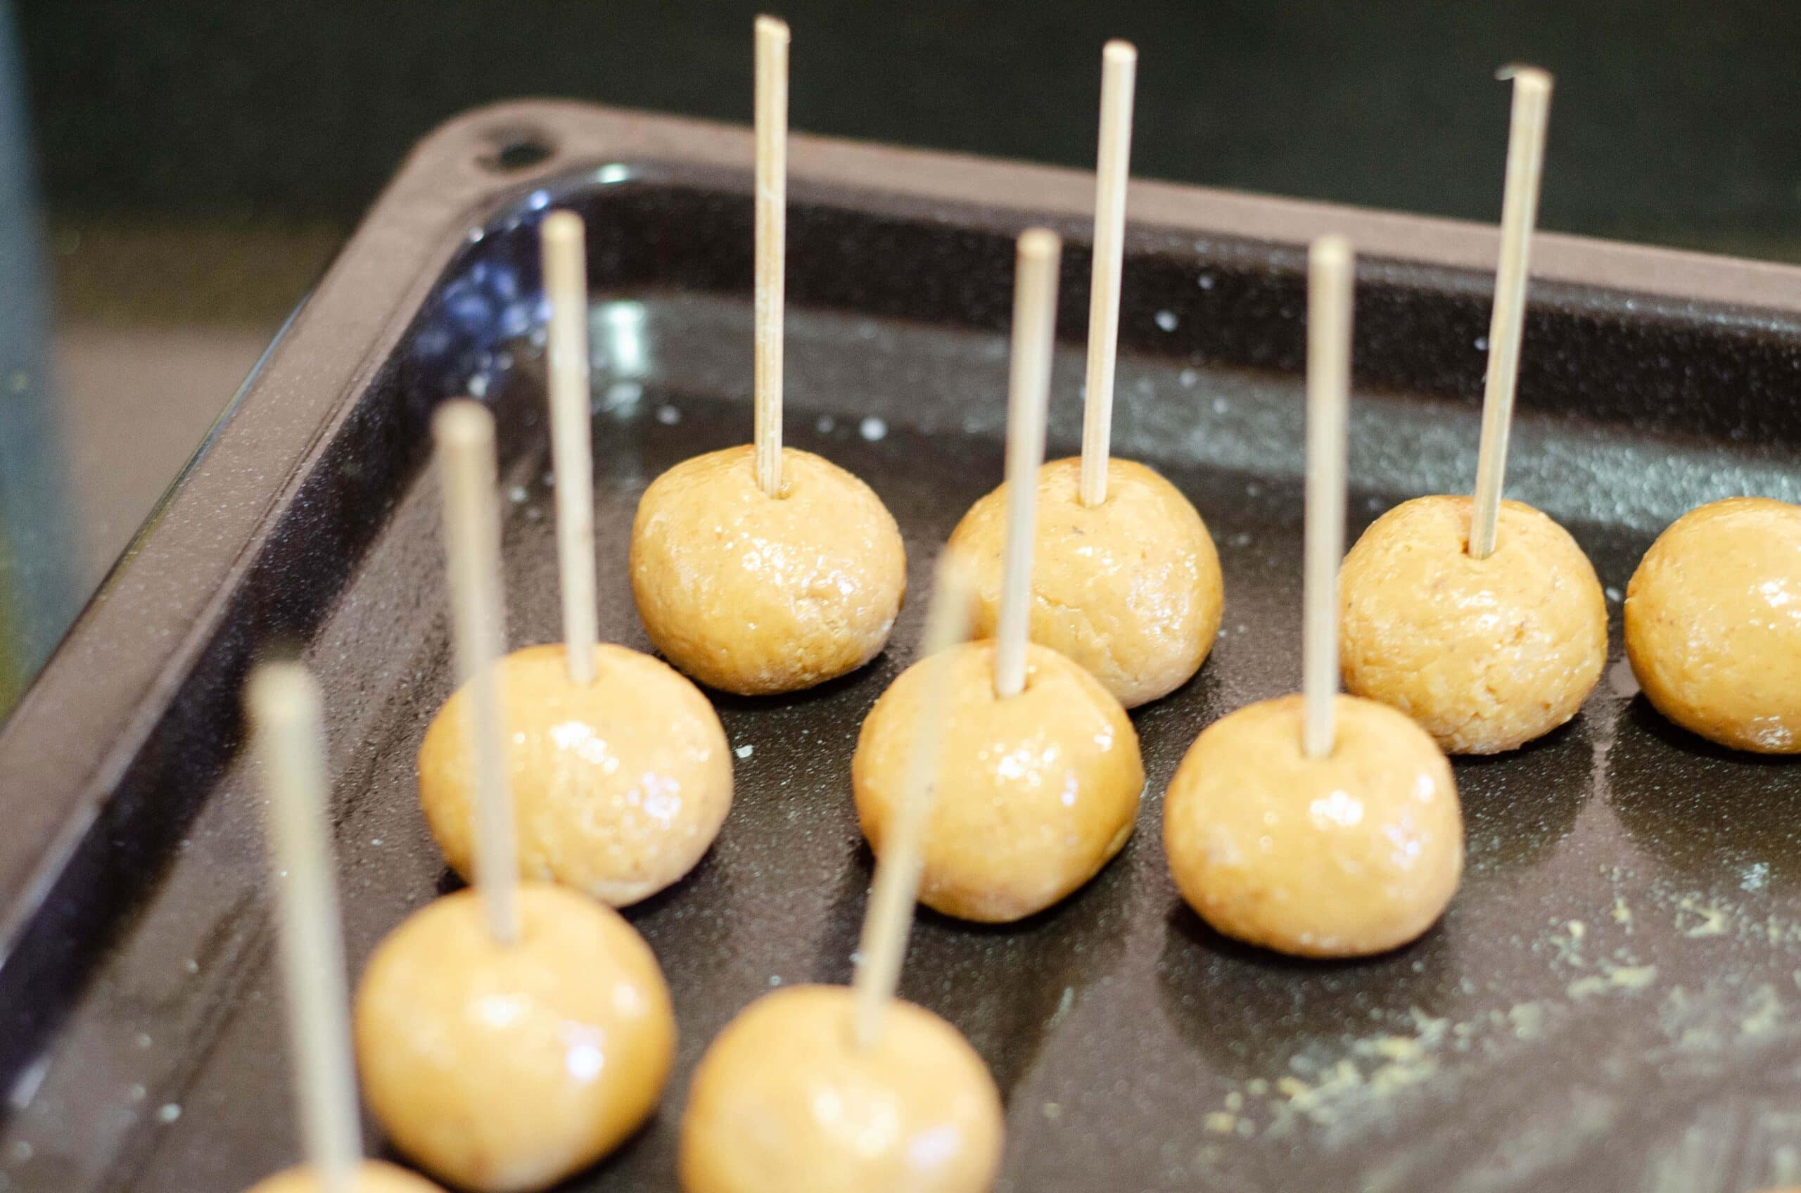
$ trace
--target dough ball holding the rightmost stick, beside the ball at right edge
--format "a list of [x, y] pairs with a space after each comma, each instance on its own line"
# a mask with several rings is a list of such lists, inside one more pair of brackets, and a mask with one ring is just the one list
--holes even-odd
[[1448, 753], [1500, 753], [1576, 715], [1606, 667], [1606, 598], [1567, 530], [1500, 503], [1470, 557], [1470, 497], [1416, 497], [1340, 573], [1345, 688], [1419, 721]]

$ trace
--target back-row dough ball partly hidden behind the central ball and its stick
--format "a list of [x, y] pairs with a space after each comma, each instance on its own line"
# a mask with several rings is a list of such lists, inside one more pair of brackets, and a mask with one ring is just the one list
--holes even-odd
[[[1189, 499], [1142, 463], [1109, 460], [1095, 508], [1082, 506], [1081, 483], [1081, 460], [1039, 469], [1030, 634], [1136, 708], [1194, 678], [1214, 649], [1219, 553]], [[1001, 485], [951, 533], [976, 566], [976, 638], [994, 634], [1005, 541]]]

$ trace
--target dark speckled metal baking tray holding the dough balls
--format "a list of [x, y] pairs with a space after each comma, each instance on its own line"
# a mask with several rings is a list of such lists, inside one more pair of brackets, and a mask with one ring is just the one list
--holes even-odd
[[[576, 105], [427, 139], [0, 730], [0, 1126], [7, 1189], [234, 1189], [295, 1159], [238, 685], [301, 651], [328, 694], [348, 950], [360, 968], [452, 881], [412, 759], [450, 688], [434, 402], [501, 420], [513, 643], [558, 631], [535, 222], [589, 222], [602, 633], [645, 647], [623, 571], [665, 467], [749, 429], [744, 130]], [[1498, 162], [1497, 162], [1498, 182]], [[787, 434], [884, 497], [913, 591], [1000, 479], [1012, 236], [1068, 238], [1054, 451], [1079, 438], [1090, 180], [796, 137]], [[1727, 494], [1801, 497], [1801, 270], [1542, 236], [1509, 494], [1608, 589], [1615, 658], [1583, 714], [1459, 760], [1462, 890], [1417, 944], [1297, 962], [1199, 924], [1162, 858], [1196, 732], [1299, 683], [1302, 245], [1362, 249], [1353, 532], [1466, 490], [1486, 229], [1135, 184], [1115, 445], [1219, 544], [1225, 625], [1140, 710], [1149, 789], [1124, 854], [1007, 928], [920, 917], [902, 993], [1007, 1099], [1001, 1188], [1740, 1193], [1801, 1177], [1801, 770], [1661, 721], [1617, 658], [1655, 532]], [[688, 1074], [773, 986], [843, 982], [870, 879], [848, 798], [873, 665], [719, 697], [737, 802], [632, 908], [675, 993], [663, 1110], [582, 1189], [668, 1189]], [[378, 1135], [371, 1132], [371, 1141]]]

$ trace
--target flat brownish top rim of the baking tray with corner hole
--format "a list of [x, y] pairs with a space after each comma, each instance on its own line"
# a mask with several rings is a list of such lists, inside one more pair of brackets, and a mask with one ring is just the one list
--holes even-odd
[[[553, 151], [524, 169], [481, 164], [519, 139], [542, 139]], [[310, 460], [403, 335], [472, 220], [578, 166], [659, 159], [747, 169], [751, 146], [742, 126], [551, 99], [475, 108], [414, 146], [0, 723], [0, 816], [9, 827], [0, 834], [0, 973], [214, 640]], [[791, 139], [789, 169], [801, 184], [1021, 218], [1082, 222], [1093, 202], [1086, 171], [807, 133]], [[1340, 231], [1367, 256], [1480, 276], [1491, 276], [1497, 245], [1493, 227], [1461, 220], [1154, 180], [1133, 180], [1129, 211], [1135, 223], [1165, 232], [1297, 249]], [[1543, 232], [1533, 276], [1801, 319], [1794, 265]]]

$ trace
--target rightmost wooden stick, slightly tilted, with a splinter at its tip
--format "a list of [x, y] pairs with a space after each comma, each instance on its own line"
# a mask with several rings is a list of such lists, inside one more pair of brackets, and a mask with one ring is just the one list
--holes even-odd
[[1520, 380], [1520, 335], [1525, 332], [1525, 272], [1538, 222], [1538, 180], [1545, 173], [1545, 123], [1551, 76], [1538, 67], [1509, 67], [1513, 117], [1507, 130], [1507, 189], [1500, 200], [1500, 263], [1495, 267], [1495, 312], [1488, 324], [1488, 389], [1482, 395], [1482, 447], [1475, 465], [1475, 515], [1470, 553], [1495, 553], [1500, 490], [1513, 431], [1513, 391]]

